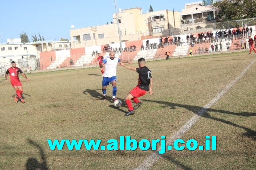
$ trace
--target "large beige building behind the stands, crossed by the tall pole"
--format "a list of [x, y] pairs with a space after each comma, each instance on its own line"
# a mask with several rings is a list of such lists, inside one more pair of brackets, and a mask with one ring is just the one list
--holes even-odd
[[74, 48], [119, 42], [118, 25], [122, 42], [143, 39], [146, 35], [169, 36], [171, 29], [180, 29], [180, 12], [161, 10], [142, 14], [142, 8], [119, 10], [118, 18], [106, 25], [91, 26], [70, 30], [71, 44]]

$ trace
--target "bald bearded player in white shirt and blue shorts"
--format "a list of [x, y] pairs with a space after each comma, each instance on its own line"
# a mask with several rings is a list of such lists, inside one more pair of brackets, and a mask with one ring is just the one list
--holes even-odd
[[105, 64], [105, 72], [104, 72], [104, 77], [102, 80], [102, 93], [103, 93], [103, 100], [106, 100], [107, 86], [109, 85], [109, 83], [112, 84], [112, 86], [113, 86], [112, 101], [114, 102], [116, 100], [116, 91], [117, 91], [117, 87], [116, 87], [117, 64], [120, 62], [132, 64], [132, 62], [115, 58], [114, 51], [110, 51], [109, 55], [110, 55], [110, 57], [106, 57], [103, 60], [103, 62], [100, 64], [100, 68], [103, 68], [103, 66]]

